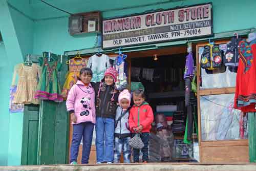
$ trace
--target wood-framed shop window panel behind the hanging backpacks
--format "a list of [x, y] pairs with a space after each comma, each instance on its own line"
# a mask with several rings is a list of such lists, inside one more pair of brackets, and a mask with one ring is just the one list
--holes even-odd
[[[219, 40], [214, 44], [225, 52], [228, 41]], [[197, 81], [201, 81], [198, 84], [200, 162], [246, 162], [247, 116], [240, 110], [233, 109], [236, 73], [224, 67], [206, 73], [201, 68], [200, 61], [207, 44], [208, 42], [204, 42], [196, 45]]]

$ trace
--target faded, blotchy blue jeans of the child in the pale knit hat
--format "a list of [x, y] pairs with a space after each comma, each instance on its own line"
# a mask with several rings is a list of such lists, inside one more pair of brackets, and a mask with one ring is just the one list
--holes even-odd
[[131, 163], [131, 146], [129, 145], [129, 140], [131, 137], [118, 138], [115, 137], [115, 153], [114, 153], [114, 163], [120, 162], [120, 156], [123, 151], [123, 162]]

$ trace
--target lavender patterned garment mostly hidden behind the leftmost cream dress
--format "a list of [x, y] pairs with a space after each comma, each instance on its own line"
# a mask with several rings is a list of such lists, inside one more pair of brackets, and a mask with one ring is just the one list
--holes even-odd
[[10, 101], [9, 101], [9, 112], [18, 113], [24, 111], [23, 103], [13, 103], [14, 95], [16, 94], [17, 86], [11, 86], [10, 88]]

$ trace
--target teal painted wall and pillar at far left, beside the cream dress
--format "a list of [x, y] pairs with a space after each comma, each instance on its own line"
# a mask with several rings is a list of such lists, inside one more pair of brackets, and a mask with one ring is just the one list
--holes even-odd
[[[21, 8], [25, 1], [10, 1], [11, 6]], [[4, 57], [0, 65], [1, 82], [1, 139], [0, 165], [20, 165], [22, 151], [22, 130], [23, 130], [23, 113], [9, 113], [9, 89], [12, 81], [14, 66], [23, 62], [23, 57], [32, 53], [33, 50], [33, 22], [28, 19], [23, 12], [18, 12], [8, 5], [7, 1], [0, 2], [0, 30], [3, 35], [5, 52], [1, 46], [0, 56]], [[27, 9], [28, 10], [28, 9]], [[28, 11], [27, 11], [28, 12]], [[6, 118], [2, 118], [6, 116]], [[7, 117], [8, 116], [8, 117]], [[2, 128], [2, 125], [4, 126]], [[2, 131], [4, 130], [5, 131]], [[3, 135], [2, 135], [3, 134]], [[3, 162], [2, 162], [3, 159]]]

